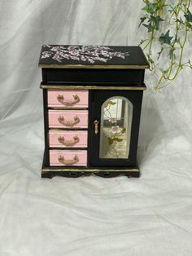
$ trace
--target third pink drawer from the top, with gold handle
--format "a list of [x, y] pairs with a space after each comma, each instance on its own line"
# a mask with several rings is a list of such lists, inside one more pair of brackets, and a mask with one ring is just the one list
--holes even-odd
[[49, 135], [50, 147], [87, 147], [87, 130], [50, 130]]

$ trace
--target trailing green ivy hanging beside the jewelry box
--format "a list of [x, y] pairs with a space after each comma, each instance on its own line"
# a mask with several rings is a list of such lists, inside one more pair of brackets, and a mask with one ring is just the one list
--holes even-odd
[[[190, 0], [143, 2], [145, 7], [142, 10], [145, 13], [139, 26], [142, 24], [147, 29], [149, 38], [142, 39], [140, 46], [146, 52], [151, 71], [159, 75], [155, 86], [155, 90], [158, 90], [173, 82], [182, 68], [192, 69], [191, 61], [183, 60], [186, 41], [192, 31]], [[161, 66], [163, 55], [168, 55], [168, 61]]]

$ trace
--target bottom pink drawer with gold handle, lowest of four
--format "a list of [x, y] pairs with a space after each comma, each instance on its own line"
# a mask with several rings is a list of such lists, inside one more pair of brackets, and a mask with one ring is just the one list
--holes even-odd
[[87, 166], [87, 151], [50, 150], [50, 166]]

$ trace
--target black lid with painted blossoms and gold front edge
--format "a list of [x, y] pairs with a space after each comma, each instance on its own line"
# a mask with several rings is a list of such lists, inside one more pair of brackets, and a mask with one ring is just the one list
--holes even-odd
[[139, 46], [44, 45], [40, 68], [149, 68]]

